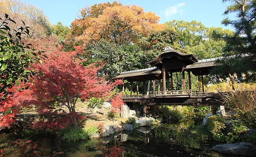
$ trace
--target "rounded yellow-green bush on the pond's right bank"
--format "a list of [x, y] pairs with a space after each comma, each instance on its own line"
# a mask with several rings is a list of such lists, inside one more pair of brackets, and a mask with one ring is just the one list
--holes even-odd
[[223, 133], [225, 128], [224, 118], [220, 116], [210, 116], [207, 119], [207, 129], [212, 133], [212, 136], [216, 141], [225, 141], [226, 135]]

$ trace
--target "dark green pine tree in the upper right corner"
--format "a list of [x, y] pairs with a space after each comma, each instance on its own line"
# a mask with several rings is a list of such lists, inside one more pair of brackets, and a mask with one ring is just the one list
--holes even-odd
[[231, 20], [225, 18], [222, 24], [234, 27], [234, 34], [216, 33], [220, 38], [227, 41], [225, 47], [226, 55], [248, 53], [256, 55], [256, 0], [222, 0], [231, 2], [224, 15], [236, 14], [236, 18]]

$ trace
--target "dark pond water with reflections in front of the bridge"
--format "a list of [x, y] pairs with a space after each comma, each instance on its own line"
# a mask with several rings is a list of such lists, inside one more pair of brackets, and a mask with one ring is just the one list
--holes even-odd
[[209, 150], [215, 141], [192, 135], [189, 124], [140, 127], [78, 142], [45, 131], [21, 131], [0, 134], [0, 149], [6, 157], [225, 157]]

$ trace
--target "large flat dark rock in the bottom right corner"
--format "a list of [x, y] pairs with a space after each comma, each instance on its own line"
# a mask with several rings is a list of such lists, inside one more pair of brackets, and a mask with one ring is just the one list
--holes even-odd
[[212, 150], [235, 156], [255, 157], [256, 154], [256, 147], [251, 143], [244, 142], [215, 145], [212, 147]]

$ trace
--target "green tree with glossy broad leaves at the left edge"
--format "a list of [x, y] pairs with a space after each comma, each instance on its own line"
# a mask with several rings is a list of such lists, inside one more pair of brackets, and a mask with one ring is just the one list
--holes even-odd
[[[29, 35], [30, 28], [25, 25], [21, 26], [16, 33], [12, 34], [9, 23], [16, 22], [5, 14], [5, 19], [0, 18], [0, 93], [4, 92], [7, 96], [7, 87], [18, 85], [20, 81], [28, 82], [35, 75], [32, 64], [42, 62], [40, 52], [30, 49], [30, 44], [25, 45], [22, 42], [23, 35]], [[46, 57], [42, 55], [41, 57]], [[3, 97], [3, 98], [4, 98]]]

